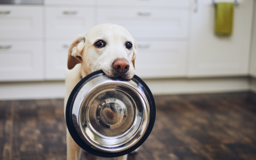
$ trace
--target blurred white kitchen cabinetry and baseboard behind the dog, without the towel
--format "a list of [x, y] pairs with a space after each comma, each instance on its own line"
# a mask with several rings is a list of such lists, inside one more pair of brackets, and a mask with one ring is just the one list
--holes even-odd
[[154, 94], [256, 90], [255, 0], [238, 1], [230, 36], [214, 33], [212, 0], [0, 2], [0, 99], [63, 98], [70, 44], [106, 22], [135, 38]]

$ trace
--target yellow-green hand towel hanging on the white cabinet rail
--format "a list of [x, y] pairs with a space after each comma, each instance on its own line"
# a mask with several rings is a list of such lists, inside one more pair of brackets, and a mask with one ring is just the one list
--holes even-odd
[[218, 2], [215, 11], [214, 32], [218, 35], [230, 36], [233, 28], [234, 3]]

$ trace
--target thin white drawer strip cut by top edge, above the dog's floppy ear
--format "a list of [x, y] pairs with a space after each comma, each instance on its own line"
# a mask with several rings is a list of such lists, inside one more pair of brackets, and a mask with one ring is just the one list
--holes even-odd
[[44, 4], [94, 4], [94, 0], [44, 0]]

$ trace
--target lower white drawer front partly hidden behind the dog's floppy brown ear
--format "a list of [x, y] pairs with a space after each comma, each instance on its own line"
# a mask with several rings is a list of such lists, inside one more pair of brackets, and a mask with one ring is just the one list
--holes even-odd
[[64, 80], [72, 41], [46, 42], [46, 79]]

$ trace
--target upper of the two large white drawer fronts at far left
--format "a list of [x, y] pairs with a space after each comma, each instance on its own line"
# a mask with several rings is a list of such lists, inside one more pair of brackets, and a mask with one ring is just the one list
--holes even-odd
[[0, 6], [0, 38], [42, 38], [41, 6]]

